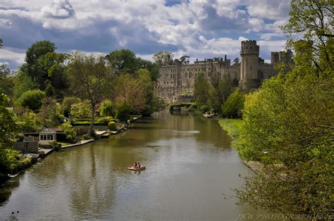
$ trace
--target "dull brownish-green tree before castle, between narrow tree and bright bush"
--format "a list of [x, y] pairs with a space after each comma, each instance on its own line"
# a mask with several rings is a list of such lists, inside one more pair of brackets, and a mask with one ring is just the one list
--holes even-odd
[[214, 109], [214, 112], [221, 113], [221, 106], [228, 99], [232, 91], [232, 82], [229, 78], [223, 80], [213, 80], [209, 85], [209, 106]]

